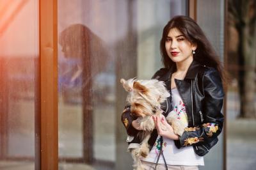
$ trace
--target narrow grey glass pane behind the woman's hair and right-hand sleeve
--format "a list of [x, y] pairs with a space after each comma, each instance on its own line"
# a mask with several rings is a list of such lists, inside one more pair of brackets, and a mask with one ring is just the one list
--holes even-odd
[[[224, 1], [198, 0], [196, 3], [196, 21], [220, 56], [220, 61], [224, 63]], [[212, 8], [212, 6], [215, 7]], [[200, 169], [223, 169], [223, 134], [224, 129], [218, 136], [219, 141], [216, 146], [205, 155], [205, 166]]]

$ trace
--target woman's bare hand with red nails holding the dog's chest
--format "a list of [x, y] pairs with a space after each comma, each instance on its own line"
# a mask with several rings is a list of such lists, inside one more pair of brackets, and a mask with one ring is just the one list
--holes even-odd
[[167, 123], [164, 117], [152, 116], [152, 118], [155, 122], [157, 133], [159, 135], [173, 140], [179, 139], [179, 135], [174, 134], [172, 126]]

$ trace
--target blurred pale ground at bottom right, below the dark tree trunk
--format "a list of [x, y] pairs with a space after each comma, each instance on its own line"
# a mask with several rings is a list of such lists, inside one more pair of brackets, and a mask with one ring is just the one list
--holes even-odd
[[234, 120], [227, 125], [227, 169], [256, 169], [256, 121]]

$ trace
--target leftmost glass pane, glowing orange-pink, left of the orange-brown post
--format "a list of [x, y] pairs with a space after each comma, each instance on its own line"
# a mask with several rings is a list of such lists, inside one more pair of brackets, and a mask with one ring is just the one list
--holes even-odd
[[35, 169], [38, 1], [0, 6], [0, 169]]

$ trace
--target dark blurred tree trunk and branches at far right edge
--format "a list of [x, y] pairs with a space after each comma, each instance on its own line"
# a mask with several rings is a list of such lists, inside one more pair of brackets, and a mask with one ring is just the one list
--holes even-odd
[[239, 38], [237, 64], [239, 65], [238, 80], [241, 98], [240, 117], [256, 118], [254, 105], [256, 77], [255, 0], [228, 0], [228, 17], [230, 18], [230, 25], [236, 29]]

